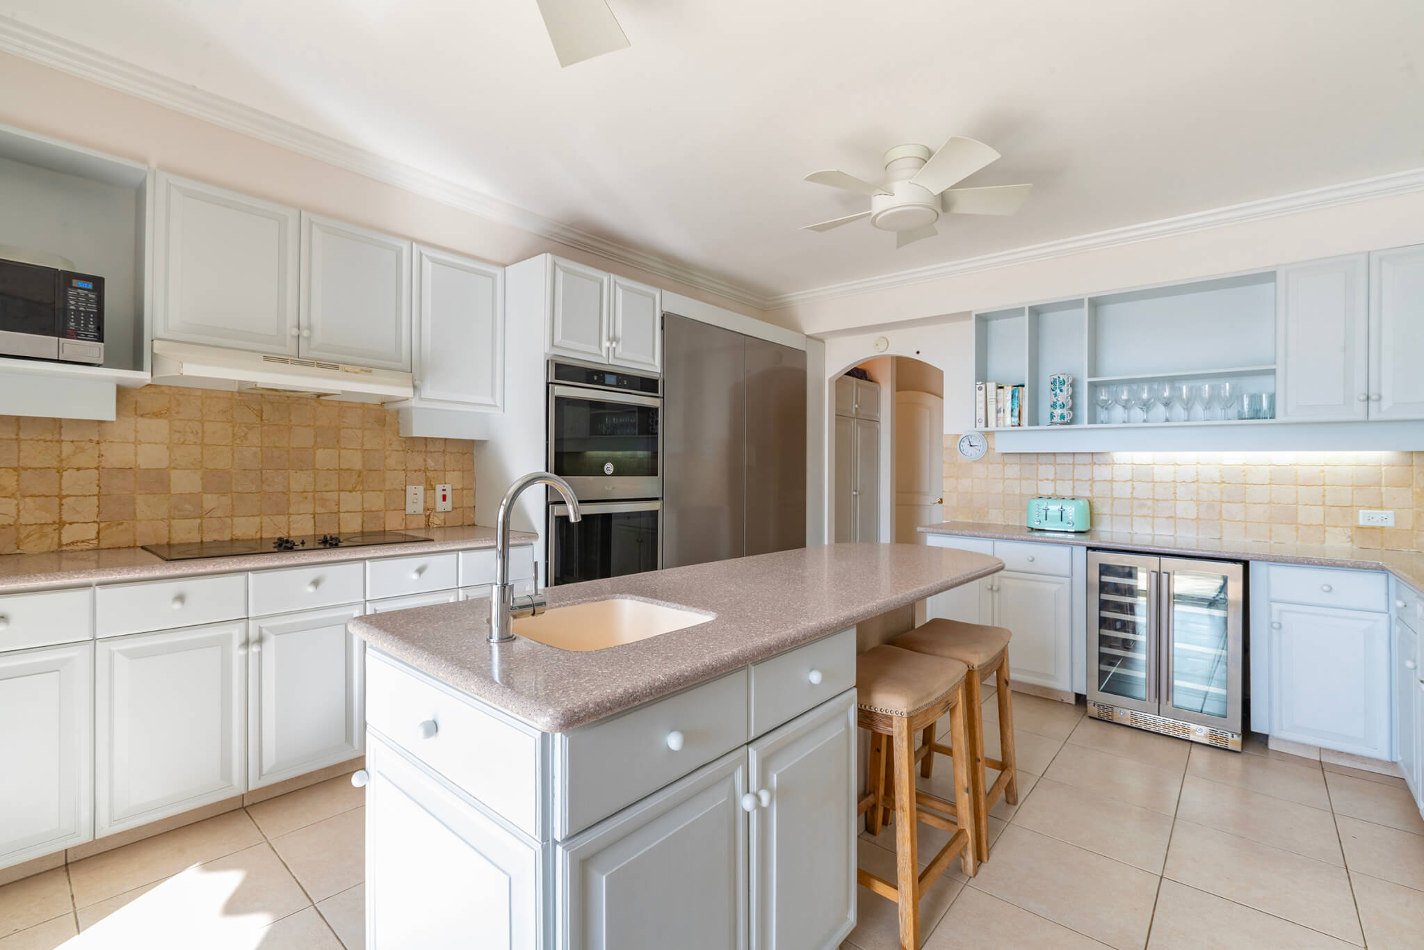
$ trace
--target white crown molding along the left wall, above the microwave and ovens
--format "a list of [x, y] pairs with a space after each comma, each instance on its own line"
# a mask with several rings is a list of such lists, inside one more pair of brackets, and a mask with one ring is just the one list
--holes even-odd
[[449, 178], [394, 161], [296, 122], [289, 122], [269, 113], [242, 105], [222, 95], [179, 83], [178, 80], [127, 63], [107, 53], [38, 30], [13, 17], [0, 16], [0, 51], [431, 198], [443, 205], [468, 211], [481, 218], [520, 228], [565, 246], [638, 268], [648, 273], [668, 278], [669, 281], [678, 281], [746, 306], [763, 309], [762, 305], [766, 298], [739, 283], [553, 221], [537, 212], [450, 181]]

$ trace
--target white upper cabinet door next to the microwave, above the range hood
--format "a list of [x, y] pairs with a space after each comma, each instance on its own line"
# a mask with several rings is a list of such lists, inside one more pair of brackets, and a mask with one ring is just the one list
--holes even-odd
[[296, 356], [299, 212], [157, 174], [154, 336]]

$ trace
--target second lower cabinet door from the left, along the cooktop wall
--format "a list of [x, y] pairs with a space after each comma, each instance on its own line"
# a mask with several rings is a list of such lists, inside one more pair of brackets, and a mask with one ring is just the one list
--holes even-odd
[[97, 642], [97, 837], [246, 790], [245, 625]]

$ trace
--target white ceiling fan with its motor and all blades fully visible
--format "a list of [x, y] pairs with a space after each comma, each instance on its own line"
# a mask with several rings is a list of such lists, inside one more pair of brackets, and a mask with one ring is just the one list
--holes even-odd
[[981, 141], [951, 135], [930, 154], [924, 145], [896, 145], [884, 155], [886, 184], [871, 185], [843, 171], [813, 171], [806, 181], [870, 197], [870, 211], [806, 225], [802, 231], [830, 231], [870, 218], [881, 231], [896, 232], [896, 248], [933, 238], [941, 214], [1011, 215], [1028, 198], [1032, 185], [954, 188], [980, 168], [1000, 158]]

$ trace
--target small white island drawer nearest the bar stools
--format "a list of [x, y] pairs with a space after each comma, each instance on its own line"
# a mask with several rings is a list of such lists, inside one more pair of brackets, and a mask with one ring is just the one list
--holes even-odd
[[756, 738], [856, 685], [856, 630], [752, 664], [752, 732]]

